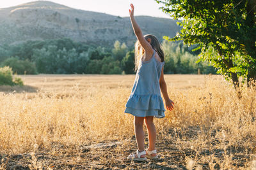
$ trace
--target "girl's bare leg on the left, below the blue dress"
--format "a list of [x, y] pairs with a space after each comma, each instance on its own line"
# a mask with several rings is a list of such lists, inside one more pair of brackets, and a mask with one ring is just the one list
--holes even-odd
[[[134, 130], [135, 130], [136, 142], [138, 145], [138, 150], [140, 152], [143, 152], [145, 150], [143, 124], [144, 124], [143, 117], [134, 117]], [[145, 156], [146, 155], [141, 155], [141, 158]]]

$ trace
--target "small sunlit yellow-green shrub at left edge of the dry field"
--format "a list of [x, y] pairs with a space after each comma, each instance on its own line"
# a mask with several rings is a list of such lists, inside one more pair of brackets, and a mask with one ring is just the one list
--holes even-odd
[[0, 67], [0, 85], [23, 85], [23, 82], [20, 78], [15, 78], [13, 81], [12, 68]]

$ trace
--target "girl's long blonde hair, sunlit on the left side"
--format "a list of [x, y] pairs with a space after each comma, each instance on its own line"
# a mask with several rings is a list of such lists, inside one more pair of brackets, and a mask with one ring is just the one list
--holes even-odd
[[[152, 48], [154, 50], [156, 50], [156, 52], [158, 53], [159, 57], [161, 58], [161, 62], [164, 61], [164, 53], [163, 53], [163, 50], [161, 49], [161, 45], [158, 41], [158, 39], [156, 38], [156, 36], [153, 36], [151, 34], [147, 34], [144, 36], [144, 38], [147, 40], [148, 38], [151, 39], [150, 41], [150, 45], [152, 46]], [[145, 50], [143, 49], [143, 47], [141, 46], [140, 44], [140, 41], [136, 41], [135, 43], [135, 52], [134, 52], [134, 71], [137, 71], [139, 65], [140, 65], [140, 62], [141, 62], [141, 58], [142, 56], [144, 55], [145, 53]]]

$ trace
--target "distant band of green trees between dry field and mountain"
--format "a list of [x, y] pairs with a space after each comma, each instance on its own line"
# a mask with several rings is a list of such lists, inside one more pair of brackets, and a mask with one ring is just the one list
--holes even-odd
[[[164, 73], [215, 74], [206, 62], [196, 64], [198, 52], [182, 43], [163, 41]], [[116, 41], [112, 47], [77, 43], [71, 39], [26, 41], [0, 46], [0, 66], [17, 74], [134, 74], [134, 47]]]

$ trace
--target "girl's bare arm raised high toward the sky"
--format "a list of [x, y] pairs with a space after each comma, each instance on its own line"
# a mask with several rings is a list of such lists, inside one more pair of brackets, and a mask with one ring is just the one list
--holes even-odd
[[130, 18], [131, 18], [133, 31], [134, 31], [138, 41], [140, 41], [140, 44], [144, 48], [145, 52], [148, 53], [149, 56], [151, 57], [151, 55], [154, 53], [153, 48], [150, 45], [150, 43], [148, 43], [148, 41], [144, 38], [144, 36], [142, 34], [142, 31], [141, 31], [139, 25], [137, 24], [137, 22], [134, 18], [134, 6], [133, 6], [133, 4], [131, 4], [131, 10], [129, 10], [129, 13], [130, 13]]

